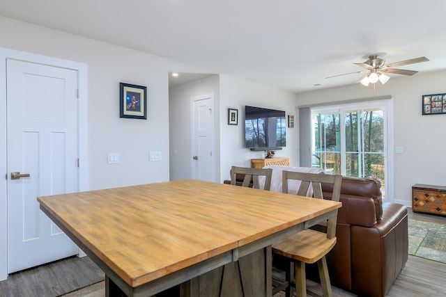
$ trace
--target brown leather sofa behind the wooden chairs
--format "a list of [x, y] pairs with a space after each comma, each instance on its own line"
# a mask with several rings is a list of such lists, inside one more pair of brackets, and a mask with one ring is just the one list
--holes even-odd
[[[408, 259], [407, 207], [383, 203], [380, 186], [376, 179], [342, 178], [337, 243], [327, 256], [332, 285], [359, 296], [385, 296]], [[330, 187], [323, 185], [325, 199]], [[317, 267], [308, 266], [307, 276], [317, 280]]]

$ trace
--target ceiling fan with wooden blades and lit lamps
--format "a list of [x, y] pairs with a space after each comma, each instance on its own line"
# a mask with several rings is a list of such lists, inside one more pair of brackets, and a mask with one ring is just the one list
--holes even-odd
[[[355, 65], [359, 65], [361, 67], [364, 67], [366, 70], [357, 71], [357, 72], [350, 72], [346, 74], [353, 74], [353, 73], [362, 73], [366, 72], [360, 79], [356, 81], [356, 83], [362, 83], [364, 86], [369, 86], [369, 83], [376, 83], [380, 81], [380, 83], [386, 83], [390, 77], [388, 77], [384, 72], [387, 73], [393, 73], [393, 74], [403, 74], [403, 75], [413, 75], [417, 73], [417, 71], [414, 70], [403, 70], [403, 69], [395, 69], [394, 67], [399, 67], [403, 65], [409, 65], [409, 64], [415, 64], [415, 63], [421, 63], [429, 61], [426, 57], [420, 57], [420, 58], [413, 58], [406, 61], [400, 61], [395, 63], [389, 63], [385, 65], [385, 59], [380, 58], [378, 55], [371, 55], [369, 56], [369, 60], [363, 62], [363, 63], [354, 63]], [[339, 77], [341, 75], [346, 74], [339, 74], [334, 75], [332, 77]], [[331, 77], [325, 77], [325, 79], [330, 79]]]

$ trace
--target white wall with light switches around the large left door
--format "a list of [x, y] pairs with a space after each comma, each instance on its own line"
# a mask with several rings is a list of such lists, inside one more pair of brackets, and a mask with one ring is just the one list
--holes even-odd
[[[88, 65], [90, 189], [169, 180], [166, 58], [5, 17], [0, 28], [0, 47]], [[120, 82], [147, 86], [148, 120], [119, 118]], [[150, 151], [162, 152], [162, 161], [148, 161]], [[108, 164], [108, 152], [118, 152], [120, 163]]]

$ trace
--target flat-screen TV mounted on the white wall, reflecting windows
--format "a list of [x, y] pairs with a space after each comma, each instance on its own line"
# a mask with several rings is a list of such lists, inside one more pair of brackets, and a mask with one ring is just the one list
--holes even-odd
[[282, 150], [285, 146], [285, 111], [245, 106], [245, 147], [251, 150]]

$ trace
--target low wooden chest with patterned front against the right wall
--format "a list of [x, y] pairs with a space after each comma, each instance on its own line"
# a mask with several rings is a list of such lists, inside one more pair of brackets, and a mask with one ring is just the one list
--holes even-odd
[[446, 216], [446, 186], [414, 184], [412, 210]]

